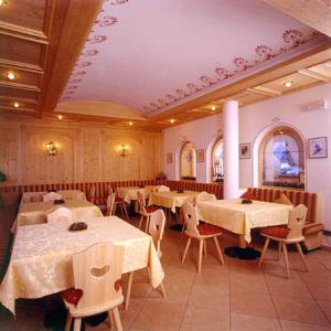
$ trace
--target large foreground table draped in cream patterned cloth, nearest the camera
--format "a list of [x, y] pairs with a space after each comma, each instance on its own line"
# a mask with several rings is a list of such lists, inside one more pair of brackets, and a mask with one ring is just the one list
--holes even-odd
[[125, 247], [122, 274], [148, 267], [151, 286], [161, 285], [164, 271], [151, 236], [117, 216], [85, 222], [84, 231], [70, 231], [63, 222], [18, 228], [0, 285], [0, 302], [13, 314], [19, 298], [36, 299], [74, 287], [73, 255], [96, 243]]

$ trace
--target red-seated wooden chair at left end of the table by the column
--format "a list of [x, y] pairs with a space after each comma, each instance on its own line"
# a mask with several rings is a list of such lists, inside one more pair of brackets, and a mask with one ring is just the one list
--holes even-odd
[[201, 261], [202, 261], [202, 249], [204, 249], [204, 254], [206, 255], [206, 244], [205, 241], [207, 238], [213, 238], [216, 250], [220, 256], [220, 260], [222, 265], [224, 265], [223, 255], [220, 248], [220, 244], [217, 237], [222, 235], [222, 231], [220, 227], [210, 225], [210, 224], [199, 224], [196, 209], [192, 204], [185, 202], [182, 206], [182, 211], [184, 214], [184, 222], [186, 224], [185, 234], [189, 236], [185, 250], [182, 258], [182, 264], [185, 260], [186, 253], [191, 245], [192, 239], [199, 241], [199, 261], [197, 261], [197, 271], [201, 273]]

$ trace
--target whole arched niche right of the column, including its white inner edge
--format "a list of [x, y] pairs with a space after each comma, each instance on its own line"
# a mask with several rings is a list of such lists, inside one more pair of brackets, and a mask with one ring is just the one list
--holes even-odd
[[253, 148], [253, 184], [305, 189], [306, 146], [296, 127], [277, 122], [257, 136]]

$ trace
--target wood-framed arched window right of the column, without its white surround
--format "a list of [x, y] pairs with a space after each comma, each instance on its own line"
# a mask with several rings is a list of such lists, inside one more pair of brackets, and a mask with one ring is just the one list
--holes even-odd
[[261, 183], [305, 189], [305, 145], [291, 128], [277, 128], [260, 145]]

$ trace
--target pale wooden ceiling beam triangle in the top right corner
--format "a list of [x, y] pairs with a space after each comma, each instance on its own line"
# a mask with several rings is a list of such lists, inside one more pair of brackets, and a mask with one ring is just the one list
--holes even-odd
[[330, 0], [264, 0], [264, 2], [331, 36]]

